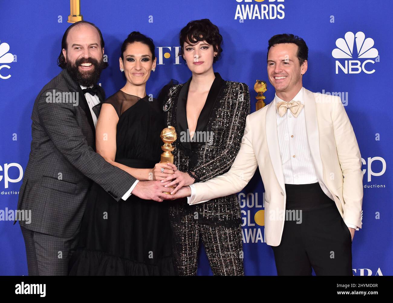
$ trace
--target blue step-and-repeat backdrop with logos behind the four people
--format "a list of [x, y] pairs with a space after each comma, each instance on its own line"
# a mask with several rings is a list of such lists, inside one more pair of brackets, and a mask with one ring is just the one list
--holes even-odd
[[[303, 86], [341, 96], [362, 154], [363, 228], [353, 240], [353, 274], [381, 276], [393, 274], [392, 6], [385, 0], [81, 0], [81, 14], [103, 33], [109, 67], [100, 83], [107, 96], [125, 83], [118, 58], [131, 31], [156, 45], [158, 65], [147, 82], [147, 93], [156, 96], [171, 78], [191, 77], [176, 57], [178, 33], [191, 20], [209, 18], [224, 38], [214, 71], [225, 80], [246, 82], [255, 111], [255, 81], [268, 82], [269, 38], [279, 33], [304, 38], [309, 69]], [[56, 60], [69, 14], [68, 0], [0, 0], [0, 275], [28, 274], [12, 214], [29, 157], [33, 102], [61, 71]], [[274, 97], [269, 83], [264, 95], [266, 103]], [[263, 194], [257, 171], [239, 193], [246, 275], [277, 274], [265, 243]], [[198, 274], [211, 274], [203, 248]]]

